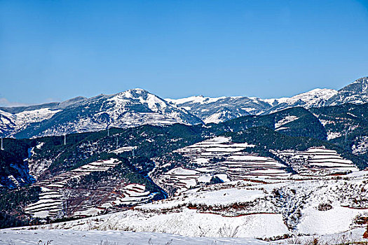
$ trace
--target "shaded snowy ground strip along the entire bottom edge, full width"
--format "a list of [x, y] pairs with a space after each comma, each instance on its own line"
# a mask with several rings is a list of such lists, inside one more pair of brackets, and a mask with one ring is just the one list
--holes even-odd
[[78, 230], [0, 230], [0, 245], [262, 245], [262, 244], [311, 244], [318, 241], [327, 244], [342, 244], [343, 241], [362, 241], [364, 229], [324, 236], [305, 236], [280, 241], [261, 241], [252, 238], [185, 237], [156, 232], [125, 231], [78, 231]]

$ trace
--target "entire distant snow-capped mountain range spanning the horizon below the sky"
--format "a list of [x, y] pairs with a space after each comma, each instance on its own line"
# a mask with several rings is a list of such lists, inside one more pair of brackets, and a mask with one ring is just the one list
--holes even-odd
[[221, 123], [240, 116], [273, 113], [294, 106], [305, 108], [368, 102], [368, 77], [341, 90], [315, 89], [294, 97], [203, 97], [161, 99], [142, 89], [60, 103], [0, 108], [0, 137], [29, 138], [107, 127]]

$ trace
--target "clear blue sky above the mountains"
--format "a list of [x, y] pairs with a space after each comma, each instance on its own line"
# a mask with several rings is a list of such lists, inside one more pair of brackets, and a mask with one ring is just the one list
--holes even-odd
[[368, 75], [367, 34], [368, 1], [2, 0], [0, 103], [339, 89]]

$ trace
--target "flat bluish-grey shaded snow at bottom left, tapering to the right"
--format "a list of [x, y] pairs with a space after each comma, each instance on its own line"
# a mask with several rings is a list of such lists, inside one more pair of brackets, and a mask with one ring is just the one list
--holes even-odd
[[26, 245], [261, 245], [257, 239], [183, 237], [154, 232], [78, 231], [78, 230], [0, 230], [0, 244]]

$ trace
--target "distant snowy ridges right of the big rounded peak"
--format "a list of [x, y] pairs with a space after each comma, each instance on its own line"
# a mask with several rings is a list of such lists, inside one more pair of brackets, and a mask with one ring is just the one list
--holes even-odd
[[260, 99], [256, 97], [203, 97], [166, 99], [198, 116], [205, 123], [221, 123], [247, 115], [268, 114], [294, 106], [305, 108], [368, 102], [368, 77], [355, 80], [341, 90], [314, 89], [293, 97]]

